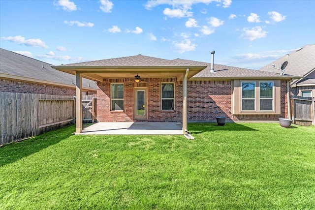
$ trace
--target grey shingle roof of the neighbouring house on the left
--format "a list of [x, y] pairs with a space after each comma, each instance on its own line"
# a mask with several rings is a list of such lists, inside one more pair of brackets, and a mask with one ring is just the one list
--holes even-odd
[[[51, 67], [52, 65], [0, 48], [0, 77], [35, 83], [75, 88], [76, 77]], [[84, 90], [96, 90], [92, 80], [83, 79]]]

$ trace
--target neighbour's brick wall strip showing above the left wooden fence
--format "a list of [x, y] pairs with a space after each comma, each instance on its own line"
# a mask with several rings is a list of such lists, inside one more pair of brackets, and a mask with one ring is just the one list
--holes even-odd
[[[75, 88], [65, 88], [59, 86], [45, 85], [26, 81], [16, 81], [0, 79], [0, 91], [2, 92], [20, 92], [37, 93], [47, 95], [75, 95]], [[95, 94], [96, 91], [82, 91], [82, 94]]]

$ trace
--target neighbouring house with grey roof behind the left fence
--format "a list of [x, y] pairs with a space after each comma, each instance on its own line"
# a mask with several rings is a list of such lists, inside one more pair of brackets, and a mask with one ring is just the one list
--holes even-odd
[[[57, 71], [49, 63], [0, 48], [0, 91], [75, 95], [75, 82], [75, 76]], [[95, 94], [95, 82], [83, 79], [82, 92]]]

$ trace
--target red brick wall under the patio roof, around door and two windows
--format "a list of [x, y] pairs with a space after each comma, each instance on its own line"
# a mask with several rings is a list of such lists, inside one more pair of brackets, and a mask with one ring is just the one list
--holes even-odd
[[[174, 82], [175, 87], [175, 110], [161, 111], [161, 83]], [[110, 84], [124, 83], [124, 111], [110, 111]], [[176, 82], [175, 78], [145, 79], [144, 82], [135, 83], [133, 78], [126, 79], [104, 79], [97, 82], [97, 120], [126, 122], [134, 121], [133, 92], [135, 87], [146, 87], [148, 89], [148, 121], [181, 121], [182, 120], [182, 83]]]

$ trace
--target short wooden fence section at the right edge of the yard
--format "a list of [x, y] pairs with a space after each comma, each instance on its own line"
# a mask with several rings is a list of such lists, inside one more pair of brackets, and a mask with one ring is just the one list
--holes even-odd
[[314, 125], [315, 123], [315, 98], [292, 96], [292, 119], [294, 124]]

